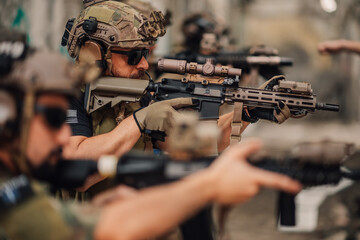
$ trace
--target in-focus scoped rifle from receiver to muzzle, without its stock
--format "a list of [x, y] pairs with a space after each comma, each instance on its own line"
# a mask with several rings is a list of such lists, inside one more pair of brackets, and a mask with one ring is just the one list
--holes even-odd
[[[217, 119], [220, 105], [236, 102], [243, 103], [245, 109], [256, 108], [256, 111], [252, 111], [252, 115], [267, 120], [274, 120], [271, 113], [279, 102], [285, 103], [294, 115], [299, 112], [313, 113], [316, 110], [339, 111], [339, 105], [317, 102], [311, 85], [306, 82], [279, 80], [270, 86], [271, 89], [261, 90], [239, 87], [239, 75], [236, 69], [217, 67], [211, 61], [201, 65], [162, 59], [158, 67], [164, 72], [203, 75], [203, 80], [200, 82], [191, 81], [188, 77], [181, 80], [165, 78], [160, 83], [150, 82], [147, 88], [159, 101], [180, 97], [197, 99], [198, 104], [193, 108], [200, 112], [202, 119]], [[208, 77], [214, 76], [222, 76], [222, 83], [210, 83]]]

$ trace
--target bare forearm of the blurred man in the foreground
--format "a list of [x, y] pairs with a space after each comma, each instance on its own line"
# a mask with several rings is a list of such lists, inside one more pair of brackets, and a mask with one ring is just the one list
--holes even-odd
[[143, 239], [166, 232], [213, 200], [211, 181], [205, 170], [108, 206], [99, 219], [96, 239]]

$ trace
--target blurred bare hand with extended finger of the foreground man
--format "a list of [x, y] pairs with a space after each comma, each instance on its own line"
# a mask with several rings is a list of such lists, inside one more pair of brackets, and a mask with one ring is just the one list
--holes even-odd
[[291, 178], [251, 166], [246, 158], [260, 149], [259, 140], [248, 140], [227, 149], [210, 166], [214, 200], [221, 204], [242, 203], [261, 187], [297, 193], [301, 185]]

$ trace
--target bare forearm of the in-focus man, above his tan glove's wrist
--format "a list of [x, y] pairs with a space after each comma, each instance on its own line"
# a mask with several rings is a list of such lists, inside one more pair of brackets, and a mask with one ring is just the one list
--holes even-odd
[[90, 138], [71, 137], [64, 148], [64, 156], [90, 159], [98, 159], [107, 154], [121, 156], [135, 145], [140, 136], [138, 126], [133, 116], [130, 116], [109, 133]]

